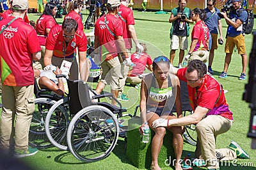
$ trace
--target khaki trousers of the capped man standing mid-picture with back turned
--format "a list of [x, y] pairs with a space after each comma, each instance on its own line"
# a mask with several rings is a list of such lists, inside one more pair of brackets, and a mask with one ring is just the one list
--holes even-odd
[[112, 90], [120, 90], [120, 79], [124, 79], [121, 73], [121, 65], [118, 57], [101, 63], [102, 75], [100, 81], [110, 84]]

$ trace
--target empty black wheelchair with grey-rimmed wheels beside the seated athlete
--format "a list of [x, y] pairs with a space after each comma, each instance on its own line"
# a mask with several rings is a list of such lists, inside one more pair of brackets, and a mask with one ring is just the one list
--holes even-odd
[[[70, 150], [83, 162], [95, 162], [111, 153], [118, 137], [126, 137], [127, 127], [120, 125], [122, 104], [112, 94], [90, 97], [85, 82], [67, 79], [68, 95], [52, 105], [45, 118], [45, 132], [51, 143], [61, 150]], [[100, 102], [100, 98], [113, 98], [119, 105]], [[97, 100], [98, 102], [93, 102]]]

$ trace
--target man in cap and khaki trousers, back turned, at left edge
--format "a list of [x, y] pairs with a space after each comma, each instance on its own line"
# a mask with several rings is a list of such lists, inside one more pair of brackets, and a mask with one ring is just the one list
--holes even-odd
[[28, 147], [28, 135], [35, 110], [32, 60], [41, 58], [41, 48], [35, 29], [24, 22], [28, 0], [13, 0], [12, 10], [0, 21], [1, 147], [9, 150], [15, 139], [15, 156], [26, 157], [38, 151]]

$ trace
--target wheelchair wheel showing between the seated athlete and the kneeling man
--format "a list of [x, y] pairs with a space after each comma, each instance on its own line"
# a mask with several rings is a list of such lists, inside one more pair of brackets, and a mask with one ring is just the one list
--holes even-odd
[[[189, 114], [193, 114], [193, 112], [191, 112], [191, 111], [184, 111], [183, 112], [183, 116], [188, 116]], [[194, 125], [194, 124], [186, 125], [183, 137], [186, 139], [186, 141], [189, 144], [192, 144], [193, 146], [196, 146], [196, 139], [197, 139], [196, 125]]]

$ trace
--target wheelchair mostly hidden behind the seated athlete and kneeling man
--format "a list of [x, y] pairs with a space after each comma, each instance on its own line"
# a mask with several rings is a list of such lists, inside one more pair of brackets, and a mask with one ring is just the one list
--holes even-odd
[[[187, 83], [184, 81], [180, 81], [180, 102], [182, 105], [182, 116], [188, 116], [189, 114], [193, 114], [193, 111], [191, 109], [191, 106], [189, 104], [189, 98], [188, 98], [188, 88], [187, 88]], [[133, 116], [136, 116], [138, 108], [140, 105], [137, 105], [134, 110]], [[176, 112], [176, 107], [173, 105], [172, 112]], [[196, 140], [197, 140], [197, 134], [196, 134], [196, 125], [186, 125], [185, 132], [183, 134], [184, 139], [186, 141], [193, 145], [196, 146]]]

